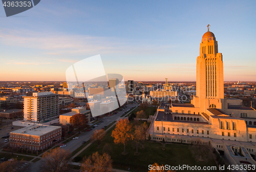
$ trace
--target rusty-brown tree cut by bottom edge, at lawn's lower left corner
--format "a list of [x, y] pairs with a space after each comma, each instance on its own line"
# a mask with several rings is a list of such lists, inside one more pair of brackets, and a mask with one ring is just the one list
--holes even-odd
[[82, 171], [87, 172], [109, 172], [112, 169], [112, 160], [109, 154], [99, 155], [98, 152], [92, 156], [84, 157], [81, 166]]

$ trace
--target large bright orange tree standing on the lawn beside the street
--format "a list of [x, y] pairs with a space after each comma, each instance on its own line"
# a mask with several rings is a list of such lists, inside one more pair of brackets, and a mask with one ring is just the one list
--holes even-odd
[[114, 137], [115, 144], [118, 144], [118, 143], [123, 144], [123, 148], [124, 148], [123, 154], [126, 154], [125, 144], [127, 143], [127, 141], [133, 139], [132, 124], [130, 124], [128, 119], [120, 119], [116, 123], [116, 127], [112, 131], [111, 136]]

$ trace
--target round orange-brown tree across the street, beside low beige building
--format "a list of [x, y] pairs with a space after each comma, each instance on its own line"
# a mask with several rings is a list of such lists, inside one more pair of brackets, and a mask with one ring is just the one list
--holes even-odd
[[79, 133], [81, 128], [86, 128], [89, 126], [87, 116], [83, 114], [75, 114], [70, 117], [70, 123], [78, 129]]

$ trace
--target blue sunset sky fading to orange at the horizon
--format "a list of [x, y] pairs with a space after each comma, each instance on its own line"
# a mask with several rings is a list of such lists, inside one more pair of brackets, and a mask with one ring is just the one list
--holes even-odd
[[256, 1], [42, 0], [6, 17], [0, 6], [0, 80], [65, 81], [75, 62], [100, 54], [105, 73], [124, 80], [196, 81], [209, 24], [224, 81], [256, 81], [255, 7]]

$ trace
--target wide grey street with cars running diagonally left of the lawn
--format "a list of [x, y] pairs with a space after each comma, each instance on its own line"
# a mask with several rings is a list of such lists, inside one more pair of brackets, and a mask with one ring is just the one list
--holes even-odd
[[103, 118], [99, 118], [100, 121], [103, 121], [99, 126], [96, 126], [92, 131], [90, 132], [84, 132], [81, 133], [78, 139], [74, 139], [66, 143], [66, 147], [63, 147], [63, 149], [70, 150], [70, 152], [74, 152], [78, 147], [81, 146], [83, 141], [89, 141], [91, 136], [93, 135], [94, 130], [100, 130], [105, 125], [108, 126], [114, 121], [119, 120], [120, 116], [123, 115], [124, 112], [131, 109], [132, 107], [137, 107], [139, 104], [129, 104], [127, 105], [127, 108], [123, 111], [118, 111], [118, 114], [112, 115], [112, 116], [104, 116]]

